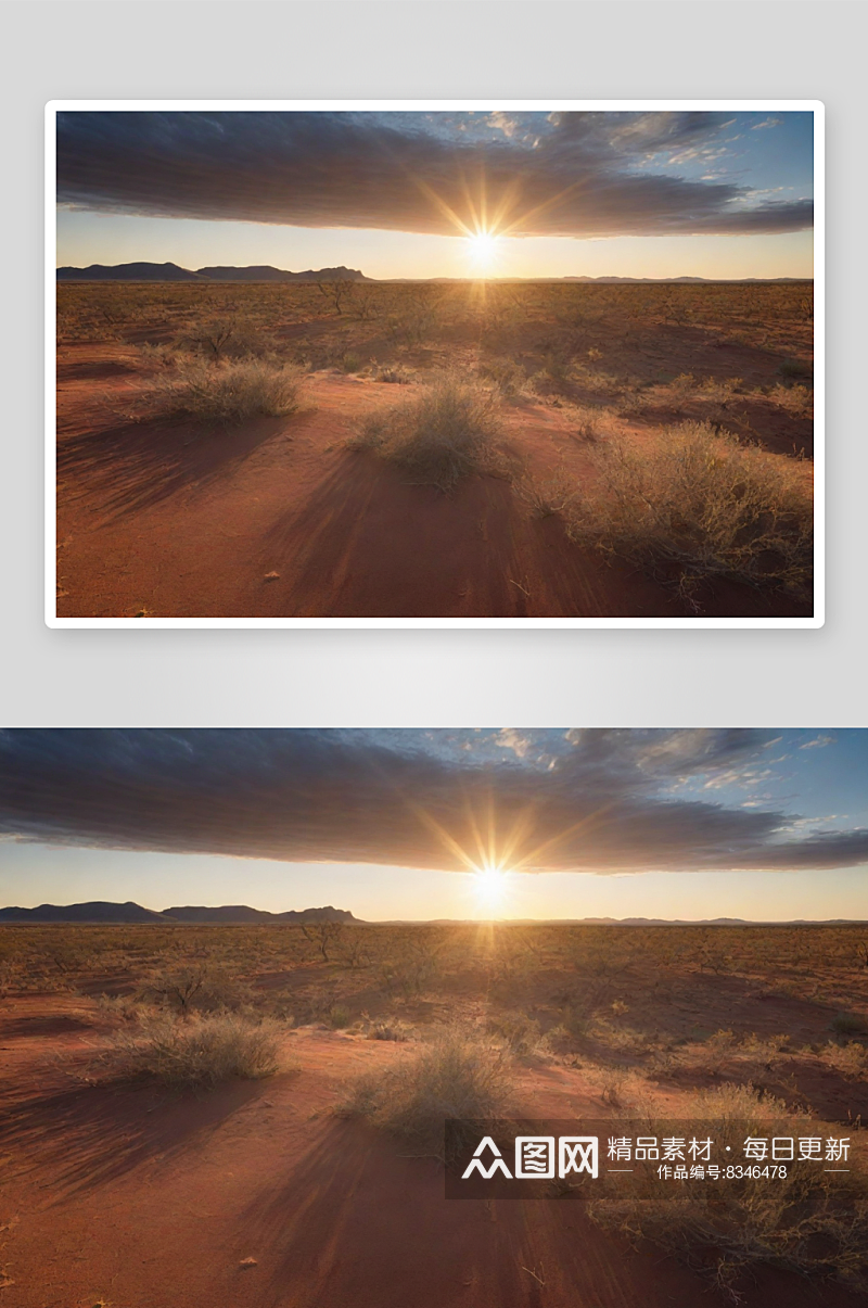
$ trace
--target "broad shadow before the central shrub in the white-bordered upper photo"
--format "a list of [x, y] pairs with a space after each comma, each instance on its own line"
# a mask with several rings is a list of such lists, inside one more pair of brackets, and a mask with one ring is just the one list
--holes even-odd
[[[673, 608], [658, 587], [570, 544], [554, 519], [532, 519], [503, 479], [469, 477], [447, 496], [358, 454], [341, 458], [301, 510], [275, 522], [264, 549], [268, 568], [293, 577], [286, 616], [621, 616]], [[280, 587], [273, 594], [281, 596]]]

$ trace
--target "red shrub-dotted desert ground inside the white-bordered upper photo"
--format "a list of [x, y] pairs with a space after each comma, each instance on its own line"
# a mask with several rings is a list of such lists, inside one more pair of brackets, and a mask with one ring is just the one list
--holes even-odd
[[809, 616], [812, 318], [810, 283], [61, 281], [58, 613]]

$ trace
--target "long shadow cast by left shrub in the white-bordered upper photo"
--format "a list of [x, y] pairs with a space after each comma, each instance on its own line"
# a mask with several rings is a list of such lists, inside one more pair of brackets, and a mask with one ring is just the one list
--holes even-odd
[[58, 476], [80, 480], [80, 493], [95, 490], [111, 521], [230, 475], [285, 425], [286, 419], [261, 417], [230, 428], [132, 422], [77, 432], [59, 439]]

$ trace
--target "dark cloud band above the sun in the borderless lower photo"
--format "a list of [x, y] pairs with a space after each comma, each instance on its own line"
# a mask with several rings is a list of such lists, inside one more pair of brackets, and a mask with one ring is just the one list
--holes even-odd
[[868, 831], [805, 835], [774, 808], [695, 798], [753, 766], [770, 740], [757, 731], [5, 731], [0, 835], [444, 870], [467, 866], [459, 850], [477, 859], [489, 831], [498, 857], [527, 871], [868, 861]]

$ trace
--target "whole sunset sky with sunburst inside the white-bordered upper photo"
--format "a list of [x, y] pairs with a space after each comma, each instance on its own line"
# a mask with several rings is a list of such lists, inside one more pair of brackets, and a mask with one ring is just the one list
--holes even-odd
[[58, 264], [810, 277], [810, 112], [63, 111]]

